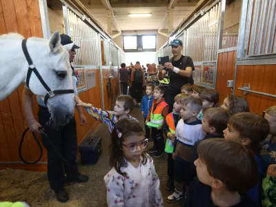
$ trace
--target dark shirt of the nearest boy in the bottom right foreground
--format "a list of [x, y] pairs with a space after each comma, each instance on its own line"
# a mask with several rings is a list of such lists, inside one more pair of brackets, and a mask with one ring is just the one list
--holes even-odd
[[[202, 184], [199, 179], [195, 179], [190, 184], [189, 191], [184, 201], [184, 207], [219, 207], [213, 204], [211, 190], [210, 186], [206, 186]], [[242, 193], [239, 204], [229, 207], [257, 207], [257, 205], [248, 197], [248, 195]]]

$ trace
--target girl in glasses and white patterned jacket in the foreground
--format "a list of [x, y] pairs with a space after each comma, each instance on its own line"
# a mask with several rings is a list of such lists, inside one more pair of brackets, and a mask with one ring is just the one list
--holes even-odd
[[121, 119], [111, 134], [109, 164], [104, 177], [108, 206], [164, 206], [152, 158], [144, 152], [148, 139], [134, 119]]

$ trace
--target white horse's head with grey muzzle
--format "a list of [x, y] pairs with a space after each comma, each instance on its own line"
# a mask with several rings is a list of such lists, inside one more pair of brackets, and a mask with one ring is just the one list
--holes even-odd
[[[30, 38], [28, 50], [39, 74], [51, 90], [72, 90], [72, 69], [68, 52], [60, 43], [59, 32], [55, 32], [50, 41]], [[29, 86], [35, 95], [39, 95], [44, 100], [47, 91], [34, 72], [30, 77]], [[47, 107], [55, 124], [65, 125], [74, 115], [74, 94], [50, 97]]]

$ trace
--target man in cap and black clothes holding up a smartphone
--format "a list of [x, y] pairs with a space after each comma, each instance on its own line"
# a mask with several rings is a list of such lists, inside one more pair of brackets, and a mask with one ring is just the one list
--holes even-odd
[[158, 78], [160, 81], [164, 79], [168, 72], [170, 83], [166, 90], [165, 101], [168, 103], [169, 112], [172, 112], [175, 96], [181, 93], [181, 87], [186, 83], [193, 85], [193, 70], [195, 70], [195, 66], [193, 59], [181, 55], [181, 50], [183, 50], [181, 40], [174, 39], [170, 42], [169, 46], [172, 46], [172, 58], [170, 62], [165, 63], [164, 66], [159, 65], [157, 69], [159, 71]]

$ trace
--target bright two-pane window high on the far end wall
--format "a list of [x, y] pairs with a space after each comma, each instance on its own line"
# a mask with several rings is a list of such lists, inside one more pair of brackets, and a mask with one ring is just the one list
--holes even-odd
[[123, 38], [125, 52], [156, 52], [157, 38], [150, 35], [127, 35]]

